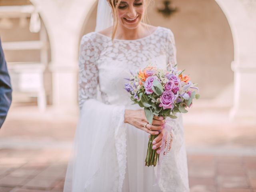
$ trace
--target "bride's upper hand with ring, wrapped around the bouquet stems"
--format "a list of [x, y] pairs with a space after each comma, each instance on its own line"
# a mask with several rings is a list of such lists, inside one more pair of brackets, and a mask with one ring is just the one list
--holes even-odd
[[[164, 128], [165, 120], [163, 117], [153, 117], [152, 125], [148, 123], [144, 110], [125, 110], [124, 123], [128, 123], [138, 129], [144, 130], [145, 132], [158, 135], [159, 132]], [[146, 125], [146, 127], [144, 127]]]

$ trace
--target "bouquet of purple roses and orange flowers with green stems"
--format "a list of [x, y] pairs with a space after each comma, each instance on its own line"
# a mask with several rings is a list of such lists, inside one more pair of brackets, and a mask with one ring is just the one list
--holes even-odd
[[[127, 79], [129, 82], [124, 85], [124, 89], [130, 93], [133, 104], [144, 108], [149, 124], [152, 124], [154, 115], [164, 119], [177, 118], [176, 113], [188, 112], [186, 108], [192, 105], [192, 100], [199, 98], [195, 91], [198, 90], [197, 84], [192, 83], [183, 72], [174, 68], [167, 71], [149, 64], [137, 74], [131, 73]], [[158, 149], [152, 149], [152, 141], [156, 136], [150, 135], [145, 166], [156, 166], [158, 162]]]

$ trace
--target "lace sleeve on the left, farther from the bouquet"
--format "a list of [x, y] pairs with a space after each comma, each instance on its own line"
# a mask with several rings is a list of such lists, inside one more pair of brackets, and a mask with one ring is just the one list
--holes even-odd
[[80, 42], [78, 59], [78, 104], [80, 110], [86, 100], [97, 96], [98, 67], [94, 50], [94, 42], [89, 34], [84, 35]]

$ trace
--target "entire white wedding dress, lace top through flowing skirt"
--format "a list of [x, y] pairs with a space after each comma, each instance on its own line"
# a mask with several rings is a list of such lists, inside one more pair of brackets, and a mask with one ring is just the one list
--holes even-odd
[[[129, 78], [130, 72], [144, 68], [148, 60], [159, 68], [166, 68], [168, 63], [176, 64], [174, 36], [169, 29], [157, 27], [151, 35], [138, 40], [112, 42], [111, 38], [97, 32], [82, 37], [79, 55], [80, 120], [74, 140], [77, 153], [68, 166], [65, 192], [94, 192], [101, 188], [111, 192], [189, 190], [182, 117], [175, 120], [176, 138], [171, 152], [164, 159], [160, 185], [154, 187], [156, 168], [144, 166], [148, 134], [123, 123], [125, 109], [139, 109], [131, 105], [123, 88], [127, 82], [124, 78]], [[98, 86], [102, 102], [96, 100]], [[100, 126], [104, 127], [102, 132]], [[86, 141], [88, 131], [95, 140], [102, 140], [99, 146], [97, 142]], [[97, 159], [100, 156], [106, 160], [101, 162]], [[85, 167], [82, 162], [91, 164], [94, 169]]]

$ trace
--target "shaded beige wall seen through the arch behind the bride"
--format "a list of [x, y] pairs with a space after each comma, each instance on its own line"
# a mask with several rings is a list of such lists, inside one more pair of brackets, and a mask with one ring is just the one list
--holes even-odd
[[[201, 98], [218, 97], [233, 84], [230, 65], [234, 48], [228, 21], [214, 0], [173, 0], [173, 5], [178, 12], [164, 18], [157, 11], [161, 1], [152, 4], [148, 9], [150, 24], [174, 32], [179, 68], [186, 69], [192, 80], [198, 82]], [[96, 7], [82, 34], [94, 31], [95, 23]], [[232, 96], [232, 92], [228, 94]]]

